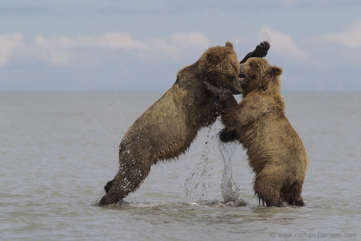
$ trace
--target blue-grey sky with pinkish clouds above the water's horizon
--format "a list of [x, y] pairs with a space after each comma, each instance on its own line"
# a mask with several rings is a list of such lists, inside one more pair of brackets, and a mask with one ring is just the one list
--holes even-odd
[[231, 41], [283, 92], [361, 91], [359, 0], [1, 0], [0, 92], [165, 92]]

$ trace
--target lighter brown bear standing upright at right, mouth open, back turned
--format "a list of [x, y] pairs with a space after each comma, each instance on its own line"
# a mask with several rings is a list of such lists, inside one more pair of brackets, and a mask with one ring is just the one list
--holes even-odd
[[262, 58], [252, 57], [240, 64], [243, 99], [239, 104], [229, 90], [205, 82], [222, 106], [222, 140], [236, 139], [247, 150], [249, 166], [255, 173], [255, 196], [267, 207], [283, 207], [283, 202], [305, 205], [301, 192], [309, 160], [284, 113], [282, 72]]

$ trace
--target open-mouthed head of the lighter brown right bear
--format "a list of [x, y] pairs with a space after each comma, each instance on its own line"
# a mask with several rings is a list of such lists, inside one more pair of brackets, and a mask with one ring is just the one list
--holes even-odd
[[240, 85], [242, 95], [246, 96], [253, 90], [273, 93], [281, 88], [280, 75], [282, 68], [270, 65], [266, 59], [252, 57], [240, 64]]

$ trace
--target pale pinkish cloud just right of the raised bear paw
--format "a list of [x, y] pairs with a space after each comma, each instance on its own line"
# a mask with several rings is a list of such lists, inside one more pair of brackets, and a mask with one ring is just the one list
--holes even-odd
[[307, 51], [298, 47], [295, 41], [287, 34], [265, 27], [270, 38], [271, 50], [280, 56], [306, 61], [309, 59]]

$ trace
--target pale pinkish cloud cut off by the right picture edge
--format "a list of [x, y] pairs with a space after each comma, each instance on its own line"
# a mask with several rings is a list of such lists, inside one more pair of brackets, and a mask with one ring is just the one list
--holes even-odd
[[361, 47], [361, 21], [347, 26], [345, 31], [338, 34], [327, 34], [323, 36], [325, 41], [338, 44], [347, 48]]

